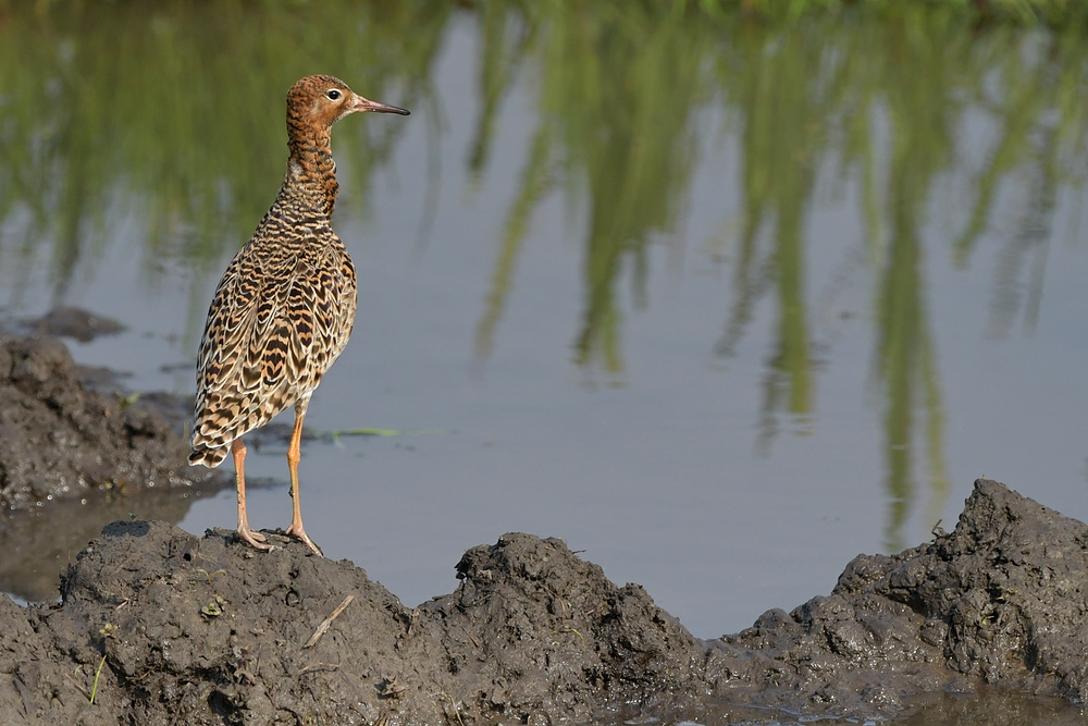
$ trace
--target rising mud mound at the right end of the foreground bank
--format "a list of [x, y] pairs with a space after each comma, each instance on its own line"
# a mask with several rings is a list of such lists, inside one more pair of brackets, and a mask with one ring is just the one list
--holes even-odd
[[830, 596], [716, 641], [715, 692], [766, 705], [894, 715], [923, 692], [1088, 697], [1088, 527], [978, 480], [955, 531], [861, 555]]

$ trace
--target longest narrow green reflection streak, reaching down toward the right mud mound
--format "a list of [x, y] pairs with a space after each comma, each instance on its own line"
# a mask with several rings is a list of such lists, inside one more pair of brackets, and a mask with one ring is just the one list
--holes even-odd
[[934, 510], [940, 510], [949, 490], [941, 435], [943, 405], [924, 297], [919, 227], [925, 223], [926, 201], [935, 177], [951, 162], [956, 107], [935, 99], [948, 98], [950, 90], [950, 78], [939, 73], [949, 47], [944, 44], [952, 40], [951, 47], [956, 46], [954, 39], [939, 36], [920, 41], [894, 37], [885, 40], [898, 41], [899, 52], [893, 63], [879, 69], [889, 81], [885, 102], [891, 138], [885, 193], [888, 244], [887, 249], [879, 250], [885, 260], [877, 284], [876, 368], [887, 397], [885, 445], [890, 510], [886, 543], [898, 550], [905, 544], [900, 532], [916, 499], [912, 444], [914, 411], [919, 405], [928, 433]]

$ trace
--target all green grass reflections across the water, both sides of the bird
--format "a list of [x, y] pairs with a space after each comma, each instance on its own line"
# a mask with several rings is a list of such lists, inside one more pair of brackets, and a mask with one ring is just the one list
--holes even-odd
[[[857, 183], [889, 549], [903, 544], [920, 497], [936, 517], [949, 491], [927, 259], [967, 264], [982, 233], [1009, 216], [1005, 205], [998, 218], [999, 199], [1026, 177], [1025, 198], [1010, 199], [1021, 207], [1000, 256], [990, 332], [1003, 335], [1021, 317], [1031, 329], [1055, 200], [1085, 176], [1088, 45], [1073, 30], [977, 32], [940, 9], [898, 5], [879, 17], [786, 26], [619, 0], [203, 10], [91, 3], [39, 12], [18, 3], [0, 11], [8, 303], [17, 305], [36, 266], [48, 268], [53, 303], [64, 303], [73, 279], [92, 273], [114, 220], [125, 217], [119, 212], [134, 213], [146, 230], [134, 253], [148, 284], [164, 259], [191, 271], [195, 336], [220, 258], [246, 238], [280, 184], [281, 155], [255, 150], [283, 140], [284, 89], [314, 67], [349, 69], [345, 79], [363, 93], [438, 119], [433, 65], [454, 19], [467, 19], [479, 28], [480, 115], [466, 151], [473, 179], [494, 163], [499, 110], [514, 84], [531, 84], [536, 98], [477, 325], [480, 360], [495, 346], [534, 210], [562, 192], [586, 220], [573, 359], [622, 380], [618, 290], [626, 283], [636, 306], [648, 304], [650, 245], [683, 227], [696, 149], [722, 132], [707, 121], [720, 118], [738, 133], [742, 214], [720, 250], [732, 266], [724, 332], [706, 345], [732, 355], [756, 305], [777, 305], [756, 422], [757, 446], [769, 452], [781, 419], [818, 414], [807, 283], [823, 250], [811, 248], [811, 211], [816, 195]], [[977, 134], [964, 134], [968, 124], [985, 130], [981, 148]], [[360, 206], [400, 133], [360, 124], [344, 136], [338, 152], [351, 159], [347, 186]], [[434, 121], [432, 140], [440, 133]], [[927, 211], [948, 189], [957, 200], [955, 232], [948, 249], [925, 249]], [[725, 192], [720, 198], [725, 207]]]

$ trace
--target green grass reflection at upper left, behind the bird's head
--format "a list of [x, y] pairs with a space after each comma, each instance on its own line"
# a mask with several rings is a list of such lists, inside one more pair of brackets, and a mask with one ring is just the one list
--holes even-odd
[[[0, 22], [0, 221], [22, 222], [0, 266], [25, 268], [49, 239], [58, 302], [118, 212], [145, 224], [152, 281], [171, 259], [218, 274], [282, 181], [284, 89], [343, 69], [361, 93], [411, 106], [452, 12], [426, 1], [314, 3], [305, 19], [237, 2], [42, 7], [13, 3]], [[353, 131], [337, 148], [362, 202], [403, 127]], [[27, 276], [11, 279], [17, 296]], [[196, 308], [205, 295], [198, 286]]]

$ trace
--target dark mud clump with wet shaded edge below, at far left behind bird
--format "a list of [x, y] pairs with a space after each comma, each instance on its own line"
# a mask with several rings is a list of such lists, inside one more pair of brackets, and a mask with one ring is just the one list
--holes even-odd
[[[20, 324], [83, 340], [108, 322], [62, 309]], [[0, 591], [55, 600], [60, 571], [107, 522], [176, 524], [194, 499], [231, 485], [228, 472], [188, 466], [191, 408], [74, 365], [55, 337], [0, 329]]]

